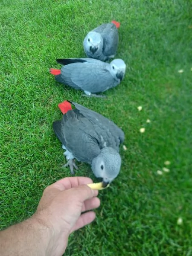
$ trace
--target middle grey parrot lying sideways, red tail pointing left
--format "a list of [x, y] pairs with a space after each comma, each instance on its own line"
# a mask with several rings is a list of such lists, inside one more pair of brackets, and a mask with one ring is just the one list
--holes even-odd
[[65, 66], [61, 70], [50, 69], [55, 80], [83, 90], [87, 96], [117, 86], [125, 76], [126, 65], [122, 59], [114, 59], [111, 63], [93, 58], [57, 59], [57, 62]]

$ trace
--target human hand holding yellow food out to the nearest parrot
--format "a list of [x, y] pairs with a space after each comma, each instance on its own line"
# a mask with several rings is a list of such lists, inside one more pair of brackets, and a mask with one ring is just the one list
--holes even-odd
[[95, 219], [93, 211], [81, 214], [100, 205], [98, 191], [85, 185], [92, 182], [87, 177], [67, 177], [44, 190], [33, 218], [49, 230], [46, 255], [61, 256], [70, 233]]

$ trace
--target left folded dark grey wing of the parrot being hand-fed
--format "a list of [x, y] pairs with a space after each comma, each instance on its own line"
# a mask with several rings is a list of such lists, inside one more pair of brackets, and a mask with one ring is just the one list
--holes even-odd
[[77, 160], [91, 163], [100, 153], [93, 125], [79, 111], [68, 111], [61, 121], [53, 122], [53, 129], [61, 143]]

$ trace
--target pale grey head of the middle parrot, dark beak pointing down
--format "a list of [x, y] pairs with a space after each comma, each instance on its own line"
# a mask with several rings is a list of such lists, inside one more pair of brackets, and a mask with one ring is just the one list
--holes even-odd
[[110, 72], [117, 81], [122, 81], [125, 76], [126, 64], [122, 59], [114, 59], [110, 63]]

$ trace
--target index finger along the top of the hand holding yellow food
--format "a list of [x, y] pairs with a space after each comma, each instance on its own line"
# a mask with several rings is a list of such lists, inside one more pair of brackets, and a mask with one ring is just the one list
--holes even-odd
[[52, 189], [59, 189], [60, 191], [78, 187], [80, 185], [87, 185], [93, 183], [88, 177], [66, 177], [61, 180], [56, 181], [49, 187]]

